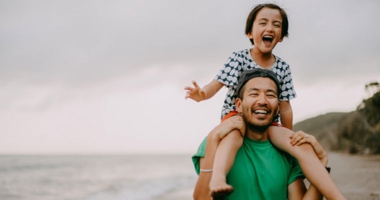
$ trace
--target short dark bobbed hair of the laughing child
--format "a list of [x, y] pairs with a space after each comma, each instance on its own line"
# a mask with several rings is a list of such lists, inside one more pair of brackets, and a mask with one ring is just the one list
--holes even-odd
[[[280, 6], [274, 4], [274, 3], [264, 3], [264, 4], [258, 4], [253, 7], [253, 9], [249, 12], [248, 18], [246, 19], [246, 24], [245, 24], [245, 34], [247, 35], [249, 32], [252, 31], [252, 26], [253, 26], [253, 21], [256, 18], [256, 15], [258, 11], [260, 11], [261, 8], [263, 7], [268, 7], [272, 9], [278, 9], [279, 13], [281, 14], [282, 17], [282, 25], [281, 25], [281, 39], [283, 37], [287, 37], [288, 32], [287, 28], [289, 26], [288, 21], [287, 21], [287, 15], [285, 10], [283, 10]], [[253, 39], [249, 39], [250, 42], [253, 43]]]

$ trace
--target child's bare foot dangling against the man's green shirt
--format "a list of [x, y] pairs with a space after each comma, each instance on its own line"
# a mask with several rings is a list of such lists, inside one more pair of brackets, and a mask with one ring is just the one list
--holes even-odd
[[210, 193], [213, 200], [221, 200], [233, 192], [233, 187], [225, 182], [225, 177], [212, 177], [210, 180]]

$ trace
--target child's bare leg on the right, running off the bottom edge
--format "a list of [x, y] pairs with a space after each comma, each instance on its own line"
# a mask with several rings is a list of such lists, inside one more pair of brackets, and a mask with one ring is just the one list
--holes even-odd
[[324, 197], [327, 199], [345, 199], [310, 144], [291, 145], [289, 135], [292, 131], [284, 127], [270, 126], [268, 131], [270, 141], [276, 147], [288, 152], [298, 160], [306, 178]]

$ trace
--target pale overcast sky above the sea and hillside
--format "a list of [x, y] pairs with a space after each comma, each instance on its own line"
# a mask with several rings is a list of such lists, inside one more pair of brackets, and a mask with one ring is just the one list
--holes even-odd
[[[192, 153], [226, 89], [184, 99], [250, 48], [256, 0], [0, 0], [0, 154]], [[380, 80], [380, 1], [276, 0], [293, 121], [348, 112]]]

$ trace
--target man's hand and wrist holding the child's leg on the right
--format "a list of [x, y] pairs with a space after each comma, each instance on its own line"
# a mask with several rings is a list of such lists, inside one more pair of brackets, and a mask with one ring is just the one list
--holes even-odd
[[311, 135], [307, 134], [301, 130], [291, 133], [290, 137], [290, 143], [291, 145], [301, 145], [303, 143], [309, 143], [316, 153], [316, 155], [319, 157], [319, 159], [322, 161], [324, 165], [327, 164], [327, 153], [324, 151], [322, 145], [316, 140], [316, 138]]

